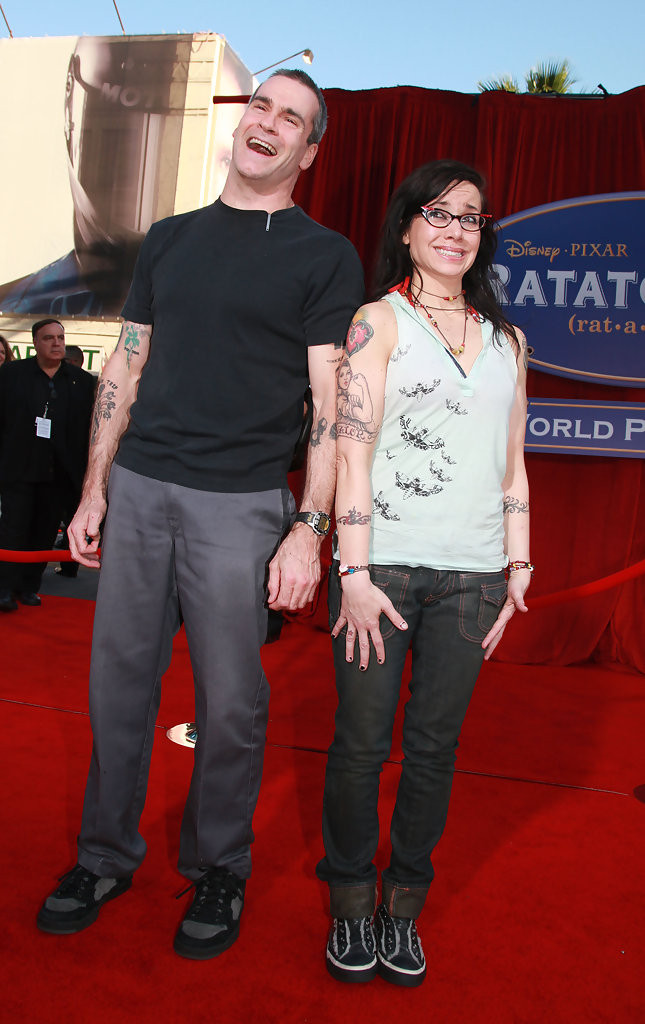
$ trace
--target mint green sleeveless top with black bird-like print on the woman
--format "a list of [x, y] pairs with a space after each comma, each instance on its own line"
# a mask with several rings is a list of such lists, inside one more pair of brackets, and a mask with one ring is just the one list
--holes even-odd
[[398, 341], [372, 468], [370, 561], [494, 571], [506, 564], [502, 481], [517, 365], [506, 338], [465, 375], [428, 321], [387, 295]]

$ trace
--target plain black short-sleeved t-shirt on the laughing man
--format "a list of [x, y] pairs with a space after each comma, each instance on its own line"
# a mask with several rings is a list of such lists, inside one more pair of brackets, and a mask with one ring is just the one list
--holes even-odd
[[351, 244], [299, 207], [218, 200], [154, 224], [123, 308], [153, 337], [118, 464], [201, 490], [284, 486], [307, 348], [342, 343], [362, 298]]

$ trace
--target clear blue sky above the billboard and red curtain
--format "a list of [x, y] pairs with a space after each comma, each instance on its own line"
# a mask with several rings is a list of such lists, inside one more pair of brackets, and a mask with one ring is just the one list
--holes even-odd
[[[1, 0], [14, 36], [118, 35], [113, 0]], [[642, 0], [396, 0], [217, 3], [117, 0], [126, 31], [202, 32], [226, 37], [255, 72], [309, 47], [324, 88], [392, 85], [476, 92], [477, 81], [522, 79], [536, 61], [568, 57], [580, 91], [645, 83]], [[403, 11], [408, 22], [403, 23]], [[0, 36], [8, 35], [0, 18]], [[304, 67], [301, 58], [292, 65]]]

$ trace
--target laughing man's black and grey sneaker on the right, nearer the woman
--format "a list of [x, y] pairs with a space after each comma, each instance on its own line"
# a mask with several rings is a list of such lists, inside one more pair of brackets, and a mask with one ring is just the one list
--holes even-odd
[[210, 959], [232, 946], [240, 934], [245, 887], [245, 880], [226, 867], [205, 871], [195, 883], [195, 898], [175, 935], [175, 952], [188, 959]]

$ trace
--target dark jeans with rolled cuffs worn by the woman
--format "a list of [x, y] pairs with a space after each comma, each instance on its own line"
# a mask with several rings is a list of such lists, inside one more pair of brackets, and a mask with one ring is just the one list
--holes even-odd
[[[401, 890], [417, 889], [425, 898], [434, 874], [431, 854], [445, 825], [459, 734], [483, 660], [481, 641], [504, 603], [506, 582], [504, 571], [405, 565], [375, 565], [371, 575], [408, 629], [400, 631], [382, 615], [385, 663], [377, 664], [373, 649], [365, 672], [358, 669], [357, 647], [354, 660], [345, 660], [346, 629], [333, 641], [339, 703], [325, 781], [326, 856], [316, 870], [332, 890], [374, 891], [379, 776], [390, 753], [405, 654], [412, 647], [403, 763], [390, 827], [392, 855], [383, 878]], [[340, 599], [335, 563], [331, 625], [338, 617]]]

